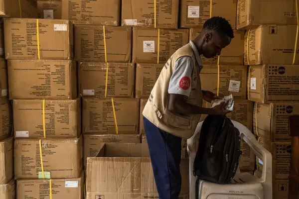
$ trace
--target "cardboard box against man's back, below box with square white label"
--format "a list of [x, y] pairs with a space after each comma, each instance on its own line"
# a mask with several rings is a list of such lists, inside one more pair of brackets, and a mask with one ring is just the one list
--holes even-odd
[[136, 64], [136, 98], [149, 98], [163, 64]]

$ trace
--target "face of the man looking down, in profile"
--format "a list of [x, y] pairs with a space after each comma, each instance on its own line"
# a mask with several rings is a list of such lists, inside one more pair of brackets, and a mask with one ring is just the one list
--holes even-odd
[[204, 37], [202, 54], [206, 58], [213, 58], [220, 55], [221, 50], [229, 45], [231, 38], [227, 35], [221, 35], [217, 32], [209, 32]]

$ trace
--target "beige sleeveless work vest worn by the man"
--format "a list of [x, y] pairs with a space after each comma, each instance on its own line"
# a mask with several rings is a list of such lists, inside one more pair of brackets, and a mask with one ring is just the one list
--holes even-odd
[[[190, 138], [199, 122], [200, 114], [181, 115], [168, 110], [168, 86], [174, 71], [175, 62], [182, 56], [190, 56], [193, 60], [191, 93], [187, 102], [202, 106], [202, 92], [199, 77], [199, 65], [195, 59], [191, 44], [178, 49], [164, 65], [144, 108], [143, 115], [158, 128], [178, 137]], [[150, 132], [149, 132], [150, 133]]]

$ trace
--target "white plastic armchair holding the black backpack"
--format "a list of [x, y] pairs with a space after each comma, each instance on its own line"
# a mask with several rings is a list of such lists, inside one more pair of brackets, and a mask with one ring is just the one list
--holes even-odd
[[[254, 177], [249, 173], [237, 173], [231, 184], [219, 185], [206, 181], [199, 181], [198, 199], [272, 199], [272, 155], [263, 148], [252, 132], [239, 122], [233, 124], [240, 131], [240, 137], [250, 146], [256, 156], [263, 162], [263, 173], [261, 178]], [[196, 155], [197, 140], [203, 122], [197, 125], [194, 135], [187, 140], [189, 153], [189, 178], [190, 199], [196, 197], [196, 179], [193, 176], [193, 163]]]

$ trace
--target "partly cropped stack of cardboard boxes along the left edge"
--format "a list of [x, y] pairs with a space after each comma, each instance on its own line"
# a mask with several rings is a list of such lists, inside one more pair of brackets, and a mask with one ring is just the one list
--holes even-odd
[[[18, 6], [17, 6], [18, 5]], [[0, 0], [0, 17], [36, 17], [37, 1]], [[3, 21], [0, 22], [0, 198], [15, 199], [12, 108], [8, 100], [7, 63], [4, 59]]]

